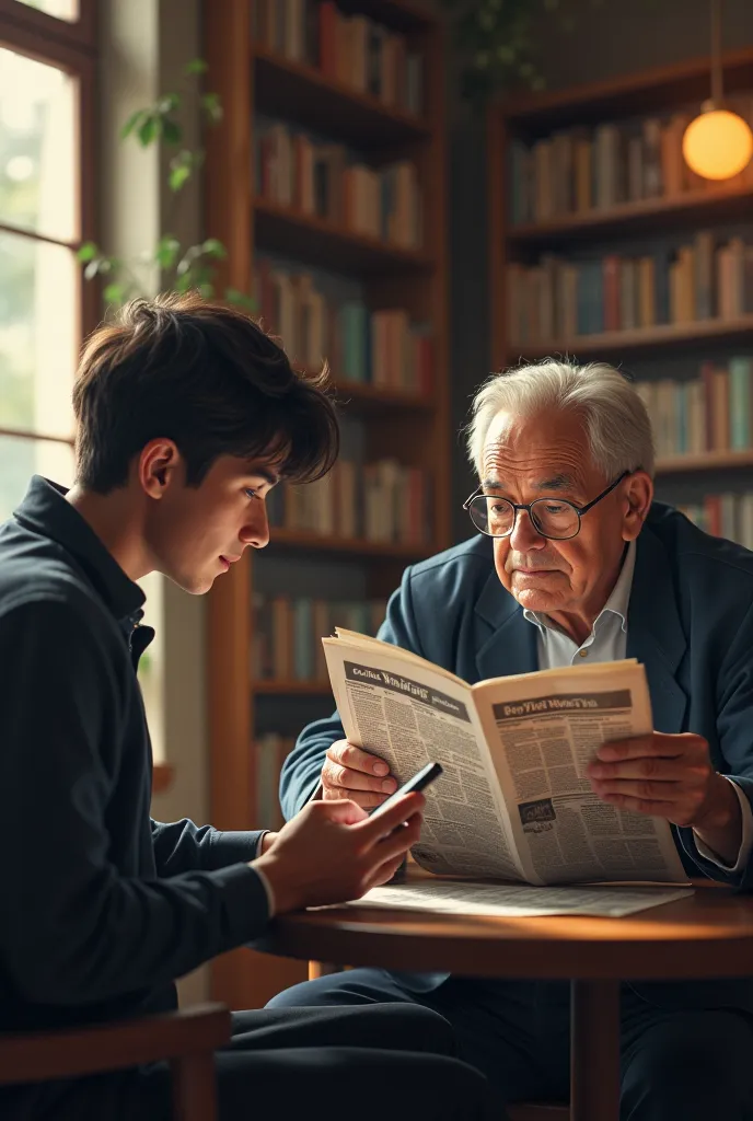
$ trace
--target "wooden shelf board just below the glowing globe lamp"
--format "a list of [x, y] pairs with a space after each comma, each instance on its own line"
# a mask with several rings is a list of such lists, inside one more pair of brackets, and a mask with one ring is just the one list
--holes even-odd
[[550, 245], [556, 241], [607, 239], [652, 233], [685, 223], [732, 222], [751, 215], [753, 187], [718, 186], [708, 191], [689, 191], [668, 198], [644, 198], [623, 203], [608, 210], [592, 210], [566, 214], [536, 225], [512, 225], [508, 233], [511, 245]]

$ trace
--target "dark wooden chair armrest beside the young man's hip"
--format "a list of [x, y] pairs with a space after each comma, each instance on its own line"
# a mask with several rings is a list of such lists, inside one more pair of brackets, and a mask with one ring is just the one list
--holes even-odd
[[215, 1121], [214, 1051], [227, 1043], [230, 1031], [224, 1004], [196, 1004], [72, 1031], [0, 1035], [0, 1086], [84, 1077], [167, 1059], [174, 1121]]

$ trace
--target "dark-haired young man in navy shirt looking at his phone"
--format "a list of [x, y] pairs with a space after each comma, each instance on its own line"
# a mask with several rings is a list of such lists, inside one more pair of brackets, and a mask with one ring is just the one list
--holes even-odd
[[[136, 669], [152, 632], [136, 581], [157, 571], [199, 594], [267, 544], [270, 488], [336, 457], [323, 385], [239, 312], [166, 297], [95, 332], [74, 406], [75, 487], [35, 478], [0, 529], [0, 1031], [174, 1008], [175, 978], [275, 914], [384, 881], [420, 828], [420, 796], [381, 822], [320, 802], [266, 835], [149, 817]], [[236, 1013], [221, 1118], [298, 1118], [333, 1078], [333, 1117], [356, 1094], [362, 1121], [491, 1117], [482, 1076], [452, 1053], [424, 1010]], [[169, 1092], [158, 1064], [11, 1087], [0, 1114], [162, 1121]]]

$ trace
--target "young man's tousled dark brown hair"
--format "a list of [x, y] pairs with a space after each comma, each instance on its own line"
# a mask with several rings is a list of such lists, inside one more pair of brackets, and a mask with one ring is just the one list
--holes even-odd
[[248, 315], [194, 293], [128, 304], [86, 341], [73, 390], [76, 481], [105, 494], [150, 439], [175, 441], [198, 487], [220, 455], [270, 458], [295, 482], [340, 450], [326, 364], [316, 376]]

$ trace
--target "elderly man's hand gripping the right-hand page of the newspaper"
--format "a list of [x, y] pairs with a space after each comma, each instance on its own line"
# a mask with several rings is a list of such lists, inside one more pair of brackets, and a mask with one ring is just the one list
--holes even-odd
[[652, 732], [604, 743], [587, 775], [604, 802], [690, 826], [723, 861], [737, 861], [740, 802], [732, 784], [712, 767], [701, 735]]

